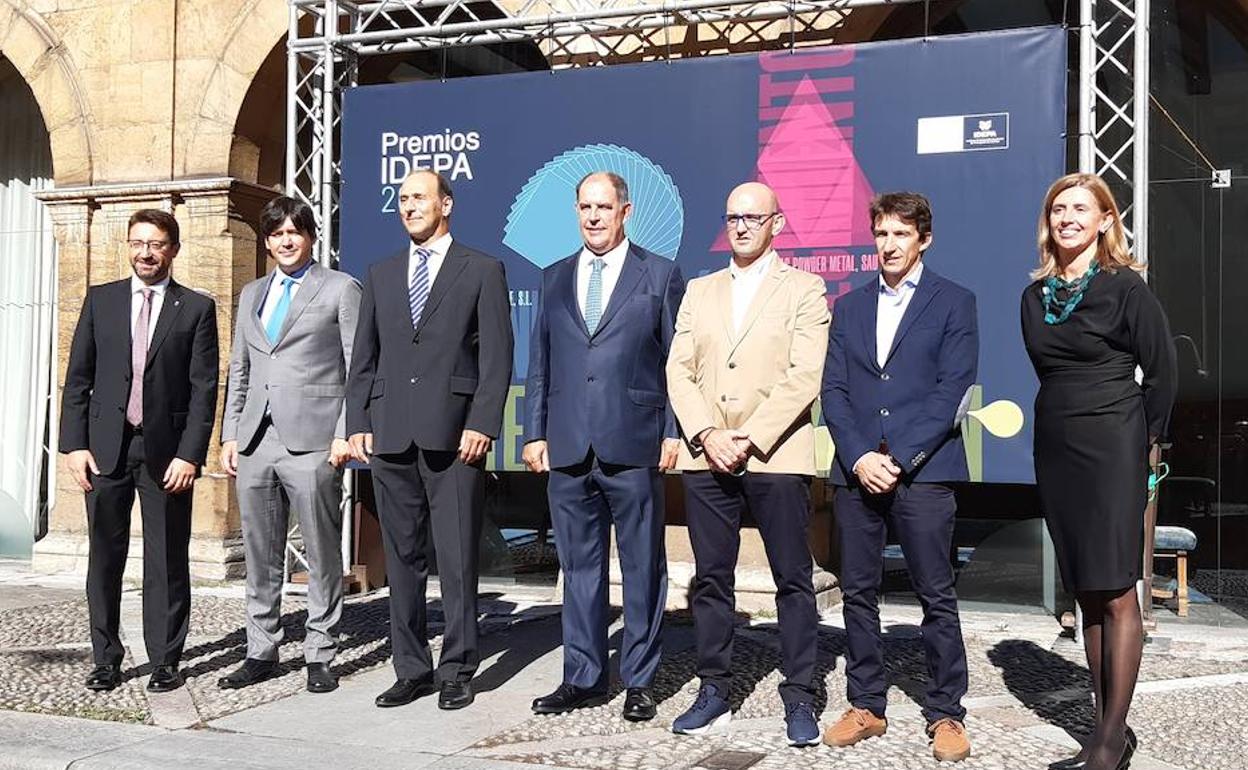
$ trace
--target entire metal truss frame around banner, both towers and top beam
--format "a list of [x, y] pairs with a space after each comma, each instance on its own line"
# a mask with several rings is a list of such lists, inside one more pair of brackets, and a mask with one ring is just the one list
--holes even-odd
[[[338, 258], [342, 95], [369, 56], [534, 42], [552, 69], [826, 44], [850, 12], [930, 0], [288, 0], [286, 192]], [[1102, 175], [1147, 260], [1148, 0], [1080, 0], [1080, 170]], [[343, 499], [351, 520], [348, 473]], [[343, 528], [343, 563], [351, 564]], [[292, 524], [287, 567], [301, 563]], [[287, 574], [290, 570], [287, 569]]]

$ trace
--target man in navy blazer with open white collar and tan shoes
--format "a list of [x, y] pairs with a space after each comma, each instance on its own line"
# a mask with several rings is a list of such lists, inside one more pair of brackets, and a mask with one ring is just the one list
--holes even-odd
[[847, 746], [887, 729], [877, 593], [891, 527], [924, 608], [932, 754], [960, 761], [971, 744], [962, 726], [966, 649], [950, 564], [957, 509], [950, 484], [968, 478], [960, 423], [980, 357], [975, 295], [922, 265], [932, 242], [927, 198], [881, 195], [870, 216], [880, 276], [836, 301], [824, 366], [851, 704], [824, 743]]

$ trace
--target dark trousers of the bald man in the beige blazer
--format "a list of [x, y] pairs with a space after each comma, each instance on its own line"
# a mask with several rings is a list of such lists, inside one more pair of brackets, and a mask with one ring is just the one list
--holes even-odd
[[694, 549], [694, 631], [698, 675], [728, 693], [733, 671], [734, 572], [741, 545], [741, 514], [759, 523], [776, 583], [776, 615], [785, 705], [815, 699], [819, 613], [806, 542], [810, 477], [746, 473], [743, 477], [685, 472], [685, 514]]

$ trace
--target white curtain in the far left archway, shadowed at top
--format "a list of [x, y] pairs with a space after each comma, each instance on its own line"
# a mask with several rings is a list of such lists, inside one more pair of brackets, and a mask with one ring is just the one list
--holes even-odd
[[44, 119], [0, 57], [0, 557], [30, 557], [56, 468], [56, 243], [34, 196], [51, 176]]

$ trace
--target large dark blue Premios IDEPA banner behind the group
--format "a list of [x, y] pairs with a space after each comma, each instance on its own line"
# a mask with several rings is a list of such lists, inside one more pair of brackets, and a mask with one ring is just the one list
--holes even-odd
[[[451, 180], [454, 237], [507, 266], [515, 374], [489, 467], [519, 470], [539, 276], [580, 246], [573, 203], [585, 173], [628, 180], [629, 237], [686, 278], [728, 263], [728, 192], [766, 182], [787, 218], [780, 256], [821, 276], [832, 306], [875, 280], [871, 196], [920, 191], [935, 212], [925, 263], [978, 297], [978, 418], [963, 426], [972, 478], [1030, 483], [1036, 384], [1018, 297], [1040, 203], [1065, 170], [1065, 34], [1043, 27], [353, 89], [342, 268], [362, 277], [407, 247], [396, 198], [408, 171]], [[993, 402], [1021, 406], [1022, 429], [993, 426], [1001, 404], [973, 411]], [[826, 467], [826, 439], [820, 454]]]

